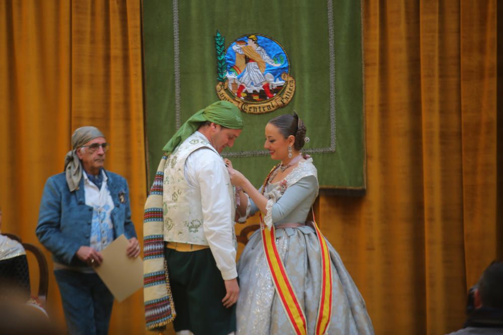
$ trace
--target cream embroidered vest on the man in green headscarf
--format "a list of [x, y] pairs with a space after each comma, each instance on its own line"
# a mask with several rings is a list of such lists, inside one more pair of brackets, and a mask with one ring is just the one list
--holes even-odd
[[[184, 174], [187, 157], [203, 147], [209, 148], [218, 154], [209, 142], [191, 135], [167, 157], [162, 193], [164, 241], [208, 245], [203, 230], [201, 190], [199, 187], [190, 187]], [[228, 196], [229, 201], [234, 204], [234, 191], [230, 178], [228, 176], [226, 178], [228, 179], [226, 182], [228, 194], [205, 196]], [[232, 208], [234, 211], [234, 205], [232, 205]], [[234, 214], [234, 212], [231, 213], [232, 219]], [[230, 224], [235, 236], [234, 222], [230, 222]]]

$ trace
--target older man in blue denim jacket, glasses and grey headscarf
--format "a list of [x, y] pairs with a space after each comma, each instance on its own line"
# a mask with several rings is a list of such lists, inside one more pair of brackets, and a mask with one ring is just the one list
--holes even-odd
[[44, 188], [36, 229], [51, 253], [70, 334], [107, 334], [114, 297], [94, 271], [101, 251], [124, 234], [126, 253], [140, 247], [131, 221], [126, 179], [106, 171], [105, 136], [81, 127], [71, 138], [65, 172], [50, 177]]

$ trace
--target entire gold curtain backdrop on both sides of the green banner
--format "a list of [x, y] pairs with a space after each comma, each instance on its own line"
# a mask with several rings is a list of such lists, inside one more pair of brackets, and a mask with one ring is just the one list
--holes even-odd
[[[496, 1], [362, 5], [367, 194], [322, 194], [316, 217], [377, 334], [443, 334], [462, 326], [467, 288], [503, 256]], [[140, 12], [138, 0], [0, 2], [3, 232], [39, 245], [44, 182], [62, 170], [72, 130], [91, 124], [112, 144], [107, 168], [129, 182], [141, 238]], [[63, 325], [52, 273], [48, 304]], [[141, 292], [114, 306], [110, 333], [147, 333]]]

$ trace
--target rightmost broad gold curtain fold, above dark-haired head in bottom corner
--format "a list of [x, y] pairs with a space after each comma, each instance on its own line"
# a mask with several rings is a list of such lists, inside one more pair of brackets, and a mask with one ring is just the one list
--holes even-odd
[[461, 22], [464, 248], [467, 282], [474, 284], [503, 257], [497, 255], [503, 222], [496, 219], [496, 2], [462, 0]]

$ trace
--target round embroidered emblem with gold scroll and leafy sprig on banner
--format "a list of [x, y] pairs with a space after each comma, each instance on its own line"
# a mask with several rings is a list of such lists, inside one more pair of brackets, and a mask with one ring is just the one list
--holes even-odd
[[217, 31], [216, 92], [249, 114], [269, 113], [286, 106], [295, 93], [290, 60], [283, 47], [262, 34], [245, 34], [225, 48]]

